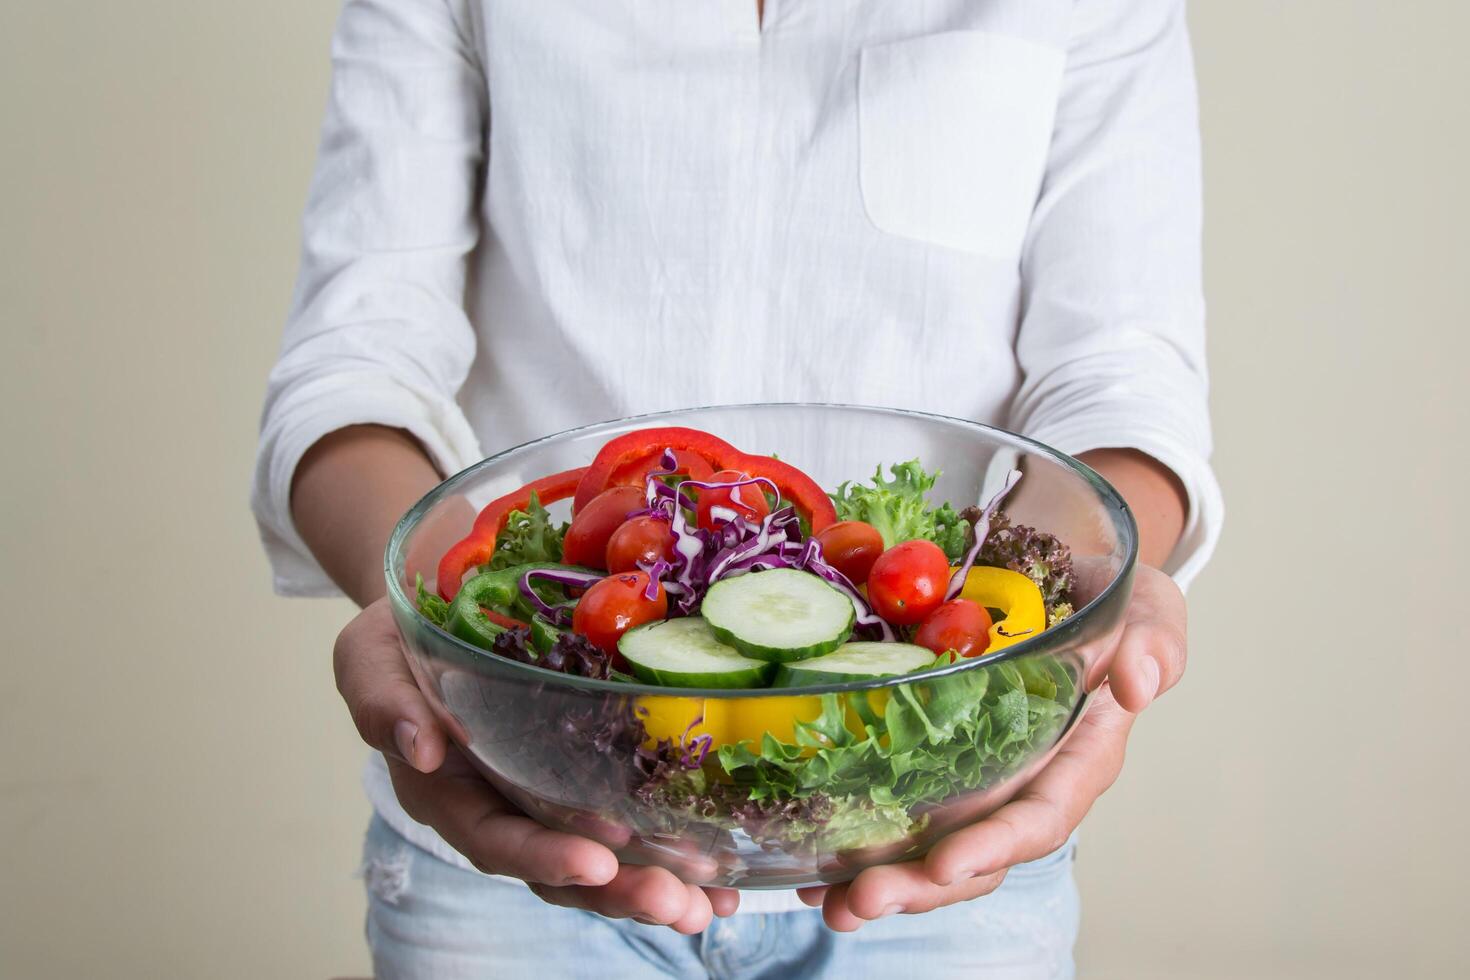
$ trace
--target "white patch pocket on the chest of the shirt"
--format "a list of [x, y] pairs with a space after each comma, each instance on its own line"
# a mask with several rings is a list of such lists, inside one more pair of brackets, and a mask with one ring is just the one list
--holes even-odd
[[1063, 53], [985, 31], [863, 48], [858, 181], [879, 229], [1020, 254], [1047, 166]]

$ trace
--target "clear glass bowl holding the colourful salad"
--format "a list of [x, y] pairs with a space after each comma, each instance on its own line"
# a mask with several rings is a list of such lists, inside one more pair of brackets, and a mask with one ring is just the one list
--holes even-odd
[[[867, 479], [879, 463], [917, 457], [944, 472], [932, 498], [957, 510], [983, 504], [1019, 464], [1025, 479], [1004, 510], [1072, 547], [1076, 613], [951, 667], [792, 693], [551, 673], [469, 645], [416, 611], [416, 576], [434, 589], [440, 555], [467, 533], [479, 507], [547, 473], [585, 466], [614, 435], [656, 425], [692, 426], [747, 453], [775, 453], [828, 489]], [[763, 889], [844, 882], [916, 857], [1010, 799], [1067, 738], [1105, 676], [1135, 555], [1136, 527], [1117, 492], [1038, 442], [914, 411], [760, 404], [607, 422], [494, 455], [404, 516], [388, 544], [387, 576], [419, 686], [475, 765], [517, 807], [548, 827], [603, 840], [625, 862], [663, 865], [698, 884]], [[785, 779], [797, 795], [753, 801], [751, 758], [738, 765], [741, 752], [731, 743], [748, 738], [745, 749], [760, 755], [767, 729], [795, 743], [794, 718], [813, 721], [823, 711], [847, 720], [835, 735], [845, 745], [808, 733], [784, 770], [757, 780], [779, 786]], [[864, 729], [875, 717], [881, 723]], [[700, 765], [700, 735], [731, 746], [714, 745]], [[659, 738], [666, 739], [662, 752]], [[808, 792], [817, 767], [831, 771]]]

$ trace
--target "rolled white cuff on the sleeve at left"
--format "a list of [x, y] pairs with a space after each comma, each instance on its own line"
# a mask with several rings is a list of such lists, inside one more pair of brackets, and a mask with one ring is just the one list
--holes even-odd
[[312, 445], [353, 425], [407, 430], [444, 475], [457, 473], [481, 458], [479, 441], [463, 411], [442, 397], [415, 391], [381, 375], [334, 375], [295, 386], [272, 406], [262, 423], [250, 494], [278, 595], [343, 594], [295, 529], [291, 480]]

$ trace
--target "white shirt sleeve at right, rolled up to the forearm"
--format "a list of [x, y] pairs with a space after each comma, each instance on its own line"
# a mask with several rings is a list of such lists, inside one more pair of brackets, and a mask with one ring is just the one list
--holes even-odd
[[1223, 522], [1210, 469], [1200, 122], [1182, 0], [1078, 0], [1022, 257], [1011, 428], [1133, 448], [1189, 495], [1164, 570], [1186, 588]]

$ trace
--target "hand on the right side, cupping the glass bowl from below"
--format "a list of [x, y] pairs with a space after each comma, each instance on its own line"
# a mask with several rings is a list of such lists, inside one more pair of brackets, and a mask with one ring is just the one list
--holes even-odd
[[923, 860], [869, 868], [845, 884], [801, 889], [836, 932], [895, 912], [989, 895], [1005, 871], [1060, 848], [1123, 768], [1139, 711], [1185, 671], [1185, 598], [1157, 569], [1138, 566], [1107, 683], [1055, 757], [1008, 804], [944, 837]]

